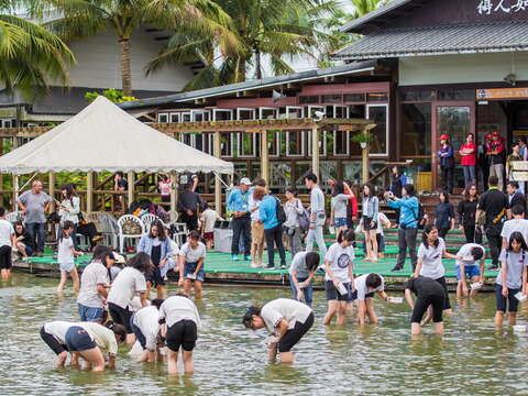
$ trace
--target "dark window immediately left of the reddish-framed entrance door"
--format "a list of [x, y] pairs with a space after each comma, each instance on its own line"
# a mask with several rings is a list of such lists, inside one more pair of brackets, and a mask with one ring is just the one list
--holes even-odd
[[429, 155], [431, 152], [431, 105], [403, 105], [402, 155]]

